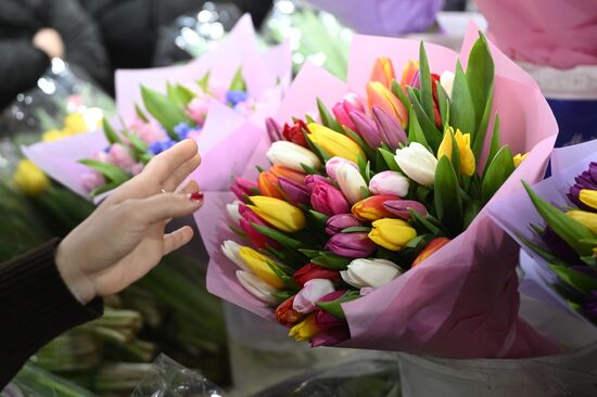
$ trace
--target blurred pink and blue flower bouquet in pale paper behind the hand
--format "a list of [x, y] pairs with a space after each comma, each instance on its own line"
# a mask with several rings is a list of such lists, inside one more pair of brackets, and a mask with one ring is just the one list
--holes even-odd
[[[50, 177], [98, 202], [139, 174], [152, 156], [191, 138], [203, 158], [192, 178], [206, 191], [223, 190], [231, 174], [245, 168], [265, 135], [261, 126], [279, 106], [290, 76], [288, 47], [261, 52], [246, 15], [201, 59], [181, 66], [118, 71], [120, 117], [104, 119], [103, 131], [41, 142], [24, 152]], [[228, 156], [234, 161], [223, 162]]]

